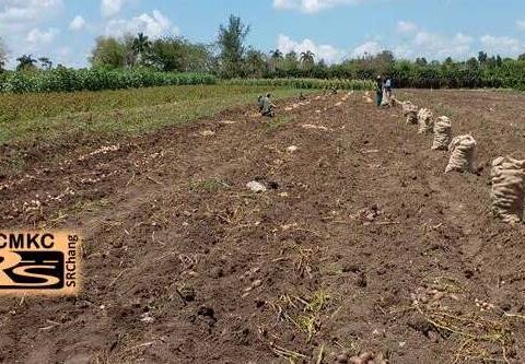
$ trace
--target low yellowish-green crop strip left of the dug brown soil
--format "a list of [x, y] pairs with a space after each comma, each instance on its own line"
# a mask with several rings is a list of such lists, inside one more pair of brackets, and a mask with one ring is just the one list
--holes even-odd
[[0, 95], [0, 144], [24, 146], [65, 138], [110, 139], [154, 131], [276, 98], [296, 89], [257, 85], [187, 85], [137, 90]]

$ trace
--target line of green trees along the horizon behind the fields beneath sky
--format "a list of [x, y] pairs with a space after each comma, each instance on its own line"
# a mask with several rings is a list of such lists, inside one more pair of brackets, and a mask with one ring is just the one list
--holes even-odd
[[[354, 79], [371, 80], [388, 74], [398, 87], [516, 87], [525, 89], [525, 54], [517, 59], [502, 58], [480, 51], [478, 57], [455, 61], [395, 59], [392, 51], [365, 54], [327, 64], [311, 50], [283, 54], [279, 49], [266, 54], [246, 46], [249, 25], [234, 15], [219, 27], [211, 45], [191, 43], [184, 37], [150, 39], [147, 35], [101, 36], [91, 51], [92, 69], [149, 69], [159, 72], [200, 72], [222, 79]], [[5, 64], [5, 48], [0, 43], [0, 70]], [[22, 55], [16, 70], [34, 72], [54, 68], [45, 57]], [[56, 68], [61, 68], [58, 66]]]

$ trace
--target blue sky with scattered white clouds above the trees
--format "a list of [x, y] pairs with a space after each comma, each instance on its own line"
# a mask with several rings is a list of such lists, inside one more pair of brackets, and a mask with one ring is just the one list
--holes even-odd
[[523, 0], [0, 0], [0, 37], [11, 66], [33, 54], [84, 67], [100, 35], [212, 43], [231, 13], [252, 26], [249, 45], [328, 62], [382, 49], [429, 59], [525, 52]]

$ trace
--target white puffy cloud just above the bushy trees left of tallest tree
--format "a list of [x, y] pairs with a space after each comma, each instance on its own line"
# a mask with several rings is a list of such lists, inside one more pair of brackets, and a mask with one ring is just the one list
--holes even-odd
[[110, 20], [106, 25], [106, 35], [121, 36], [127, 33], [144, 33], [149, 37], [156, 38], [162, 35], [176, 35], [178, 28], [173, 26], [172, 21], [159, 10], [153, 10], [151, 15], [143, 13], [130, 20]]

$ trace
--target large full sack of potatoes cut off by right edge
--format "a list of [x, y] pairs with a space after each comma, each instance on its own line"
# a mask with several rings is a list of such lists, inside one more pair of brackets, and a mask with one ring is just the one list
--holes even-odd
[[491, 211], [506, 223], [523, 221], [525, 203], [525, 161], [510, 156], [492, 162]]

